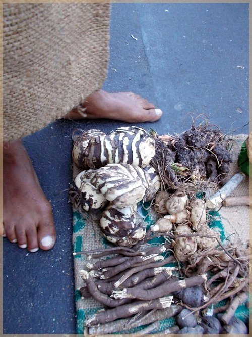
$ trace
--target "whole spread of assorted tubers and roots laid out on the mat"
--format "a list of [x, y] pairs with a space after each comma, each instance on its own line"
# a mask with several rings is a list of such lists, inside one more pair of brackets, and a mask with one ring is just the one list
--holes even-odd
[[[83, 300], [105, 306], [85, 320], [85, 334], [142, 325], [141, 334], [155, 333], [170, 317], [176, 325], [163, 334], [246, 334], [234, 313], [247, 302], [250, 247], [223, 245], [208, 225], [205, 200], [196, 198], [195, 181], [225, 181], [232, 158], [219, 130], [206, 122], [159, 137], [130, 126], [73, 139], [73, 160], [83, 171], [70, 200], [83, 216], [100, 212], [102, 234], [114, 244], [74, 253], [88, 256], [79, 271]], [[136, 220], [144, 201], [159, 216], [147, 231]], [[152, 242], [157, 237], [161, 243]], [[222, 300], [224, 306], [213, 307]]]

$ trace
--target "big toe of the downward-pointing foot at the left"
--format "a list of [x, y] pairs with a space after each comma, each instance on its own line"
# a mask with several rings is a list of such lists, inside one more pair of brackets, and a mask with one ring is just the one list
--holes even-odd
[[38, 226], [38, 244], [39, 248], [47, 251], [51, 249], [56, 240], [56, 230], [53, 222], [43, 224]]

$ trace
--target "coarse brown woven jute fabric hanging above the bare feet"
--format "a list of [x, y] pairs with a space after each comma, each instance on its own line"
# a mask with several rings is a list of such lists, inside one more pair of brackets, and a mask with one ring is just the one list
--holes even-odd
[[4, 141], [42, 129], [101, 88], [109, 4], [3, 4]]

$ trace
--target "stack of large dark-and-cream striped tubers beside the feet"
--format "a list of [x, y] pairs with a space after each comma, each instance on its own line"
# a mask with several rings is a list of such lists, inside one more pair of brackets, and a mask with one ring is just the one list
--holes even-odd
[[73, 160], [85, 170], [75, 178], [70, 200], [82, 214], [104, 210], [100, 227], [112, 243], [132, 246], [145, 236], [136, 211], [138, 202], [152, 200], [160, 188], [159, 175], [149, 165], [154, 154], [154, 139], [135, 126], [74, 136]]

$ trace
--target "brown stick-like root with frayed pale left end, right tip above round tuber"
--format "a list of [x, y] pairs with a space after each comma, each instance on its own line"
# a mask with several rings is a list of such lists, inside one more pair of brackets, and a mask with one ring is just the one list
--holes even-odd
[[183, 288], [200, 285], [207, 280], [206, 275], [192, 276], [179, 281], [165, 281], [162, 285], [154, 289], [142, 290], [139, 288], [124, 288], [121, 291], [114, 291], [114, 298], [130, 298], [139, 300], [153, 300], [161, 296], [172, 294]]

